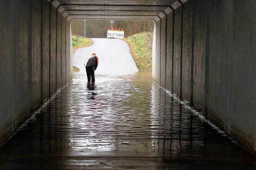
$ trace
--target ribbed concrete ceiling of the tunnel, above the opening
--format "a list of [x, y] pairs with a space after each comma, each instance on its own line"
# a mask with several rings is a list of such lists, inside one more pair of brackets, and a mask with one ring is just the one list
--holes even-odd
[[49, 0], [68, 19], [155, 20], [187, 0]]

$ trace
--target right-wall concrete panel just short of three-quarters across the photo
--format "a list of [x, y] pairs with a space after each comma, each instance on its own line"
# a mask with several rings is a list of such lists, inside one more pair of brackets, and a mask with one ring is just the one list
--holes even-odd
[[192, 60], [192, 0], [184, 4], [183, 46], [182, 46], [182, 98], [191, 101], [191, 60]]

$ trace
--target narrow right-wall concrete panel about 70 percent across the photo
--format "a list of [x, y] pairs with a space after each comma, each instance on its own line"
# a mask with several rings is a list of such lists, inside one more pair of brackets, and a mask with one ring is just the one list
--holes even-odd
[[174, 59], [173, 59], [173, 93], [180, 96], [180, 53], [181, 53], [181, 18], [182, 7], [175, 10], [174, 20]]

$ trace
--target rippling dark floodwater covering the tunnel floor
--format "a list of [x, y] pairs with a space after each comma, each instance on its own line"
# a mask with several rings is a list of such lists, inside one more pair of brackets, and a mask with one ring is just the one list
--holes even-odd
[[256, 169], [256, 159], [148, 73], [76, 73], [0, 147], [0, 169]]

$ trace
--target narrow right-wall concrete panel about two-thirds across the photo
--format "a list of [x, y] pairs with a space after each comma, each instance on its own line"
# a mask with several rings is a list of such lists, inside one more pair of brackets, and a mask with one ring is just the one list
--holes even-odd
[[172, 21], [173, 12], [167, 16], [166, 29], [166, 89], [172, 89]]

